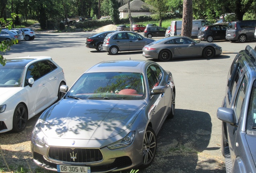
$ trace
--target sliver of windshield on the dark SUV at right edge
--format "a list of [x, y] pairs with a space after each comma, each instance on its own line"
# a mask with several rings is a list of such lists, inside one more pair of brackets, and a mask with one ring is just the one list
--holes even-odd
[[256, 81], [254, 81], [252, 86], [250, 101], [248, 105], [247, 130], [254, 131], [254, 135], [256, 135]]

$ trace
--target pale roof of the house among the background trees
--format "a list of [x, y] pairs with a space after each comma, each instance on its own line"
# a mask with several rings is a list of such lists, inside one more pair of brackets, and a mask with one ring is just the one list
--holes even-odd
[[[146, 3], [141, 1], [141, 0], [133, 0], [130, 2], [130, 11], [134, 12], [134, 11], [147, 11], [149, 12], [149, 8], [146, 7]], [[118, 11], [128, 11], [128, 4], [125, 4], [124, 6], [121, 6], [120, 8], [118, 8]]]

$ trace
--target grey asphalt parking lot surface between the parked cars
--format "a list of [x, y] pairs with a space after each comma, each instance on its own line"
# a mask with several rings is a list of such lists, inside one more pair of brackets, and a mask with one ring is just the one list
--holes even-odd
[[[103, 60], [141, 59], [141, 51], [109, 55], [85, 47], [86, 37], [96, 32], [46, 33], [19, 42], [6, 52], [5, 58], [21, 56], [51, 56], [63, 69], [67, 85], [71, 85], [85, 70]], [[159, 39], [159, 38], [153, 38]], [[167, 120], [158, 135], [158, 150], [153, 164], [139, 173], [224, 173], [221, 155], [221, 121], [217, 108], [225, 95], [227, 73], [233, 58], [255, 41], [246, 43], [215, 42], [223, 54], [212, 59], [177, 58], [159, 62], [172, 72], [176, 85], [176, 112]], [[151, 59], [149, 59], [151, 60]]]

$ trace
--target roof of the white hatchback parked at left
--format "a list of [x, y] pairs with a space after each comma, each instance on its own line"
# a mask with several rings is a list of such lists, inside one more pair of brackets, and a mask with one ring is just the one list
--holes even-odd
[[52, 59], [50, 56], [26, 56], [26, 57], [17, 57], [6, 59], [5, 67], [8, 66], [17, 66], [17, 67], [25, 67], [30, 62], [35, 60], [43, 60], [43, 59]]

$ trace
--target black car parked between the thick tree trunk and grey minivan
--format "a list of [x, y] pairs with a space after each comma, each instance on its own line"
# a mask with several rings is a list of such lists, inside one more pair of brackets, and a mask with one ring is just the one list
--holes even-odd
[[222, 24], [206, 25], [200, 28], [197, 38], [207, 42], [225, 40], [227, 26]]

